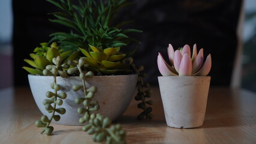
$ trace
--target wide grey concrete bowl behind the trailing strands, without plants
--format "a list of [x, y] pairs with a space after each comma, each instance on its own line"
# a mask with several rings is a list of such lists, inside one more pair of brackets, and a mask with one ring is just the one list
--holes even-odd
[[[92, 79], [87, 79], [86, 86], [96, 86], [98, 91], [95, 94], [93, 100], [99, 102], [100, 110], [104, 116], [108, 116], [112, 121], [121, 116], [130, 104], [133, 97], [133, 92], [136, 88], [136, 82], [138, 79], [137, 74], [121, 75], [121, 76], [94, 76]], [[53, 82], [53, 76], [34, 76], [28, 75], [29, 85], [35, 103], [40, 109], [41, 113], [46, 116], [50, 116], [44, 109], [43, 100], [47, 97], [46, 92], [52, 91], [50, 83]], [[83, 104], [76, 104], [75, 99], [77, 97], [84, 97], [82, 91], [73, 91], [73, 85], [82, 85], [82, 80], [79, 77], [56, 77], [56, 82], [61, 85], [60, 92], [66, 92], [67, 98], [63, 100], [62, 106], [66, 109], [66, 113], [61, 115], [59, 121], [54, 121], [56, 124], [61, 125], [81, 125], [78, 120], [83, 115], [77, 112], [79, 107], [83, 107]]]

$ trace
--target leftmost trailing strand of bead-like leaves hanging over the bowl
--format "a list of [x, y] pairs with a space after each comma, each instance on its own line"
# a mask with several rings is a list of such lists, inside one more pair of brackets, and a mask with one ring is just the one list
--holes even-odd
[[60, 115], [64, 115], [66, 113], [66, 109], [61, 106], [63, 103], [63, 99], [67, 97], [67, 94], [65, 92], [58, 91], [61, 89], [61, 86], [57, 84], [56, 82], [56, 76], [61, 77], [67, 77], [67, 72], [62, 71], [64, 68], [68, 68], [69, 65], [62, 64], [62, 58], [61, 56], [57, 56], [57, 58], [52, 58], [53, 65], [47, 65], [46, 69], [43, 70], [44, 75], [53, 76], [53, 83], [51, 83], [50, 88], [53, 89], [53, 92], [47, 91], [46, 97], [48, 99], [43, 100], [43, 105], [47, 112], [52, 113], [50, 116], [43, 115], [41, 116], [41, 120], [38, 120], [35, 122], [35, 126], [37, 127], [43, 127], [43, 130], [41, 131], [41, 134], [45, 133], [46, 135], [52, 134], [53, 127], [50, 126], [50, 122], [52, 122], [52, 119], [55, 121], [59, 121], [61, 119], [61, 116], [59, 116], [56, 113], [59, 113]]

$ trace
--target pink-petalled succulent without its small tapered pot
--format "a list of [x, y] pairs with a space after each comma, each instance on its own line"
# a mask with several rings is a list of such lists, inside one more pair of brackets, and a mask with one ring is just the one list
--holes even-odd
[[204, 61], [204, 49], [197, 53], [197, 44], [193, 46], [191, 56], [189, 45], [175, 50], [171, 44], [168, 47], [168, 57], [171, 65], [163, 59], [161, 53], [157, 56], [157, 65], [162, 76], [207, 76], [212, 67], [212, 56], [209, 54]]

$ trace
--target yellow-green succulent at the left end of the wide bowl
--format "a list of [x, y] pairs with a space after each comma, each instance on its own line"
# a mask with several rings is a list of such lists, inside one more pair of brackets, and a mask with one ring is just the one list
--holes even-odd
[[31, 67], [22, 67], [28, 73], [31, 74], [39, 74], [43, 75], [43, 70], [46, 68], [46, 65], [52, 65], [52, 59], [56, 58], [57, 56], [61, 56], [62, 59], [64, 59], [64, 62], [67, 60], [73, 60], [78, 58], [80, 52], [74, 52], [70, 55], [72, 52], [71, 50], [67, 52], [62, 52], [62, 50], [58, 50], [59, 47], [56, 43], [52, 43], [50, 47], [47, 47], [46, 43], [41, 43], [41, 47], [35, 48], [34, 52], [31, 53], [30, 56], [31, 59], [24, 59], [26, 63], [28, 63]]

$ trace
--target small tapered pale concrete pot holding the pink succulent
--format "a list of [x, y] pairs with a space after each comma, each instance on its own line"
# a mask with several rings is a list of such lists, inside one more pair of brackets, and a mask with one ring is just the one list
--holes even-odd
[[158, 80], [167, 125], [175, 128], [203, 125], [210, 77], [160, 76]]

